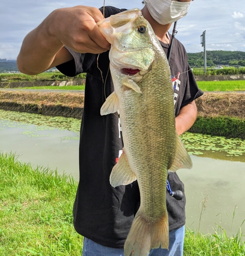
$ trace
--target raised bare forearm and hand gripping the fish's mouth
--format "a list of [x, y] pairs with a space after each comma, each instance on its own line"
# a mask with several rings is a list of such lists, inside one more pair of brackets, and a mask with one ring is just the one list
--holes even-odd
[[20, 72], [39, 74], [48, 68], [69, 61], [72, 56], [63, 47], [79, 53], [102, 53], [110, 49], [97, 22], [101, 11], [87, 6], [53, 11], [23, 40], [17, 57]]

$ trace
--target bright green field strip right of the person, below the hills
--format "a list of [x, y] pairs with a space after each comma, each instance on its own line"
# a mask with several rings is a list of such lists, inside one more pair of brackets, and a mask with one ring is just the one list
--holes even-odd
[[197, 81], [198, 87], [206, 92], [245, 91], [245, 80]]

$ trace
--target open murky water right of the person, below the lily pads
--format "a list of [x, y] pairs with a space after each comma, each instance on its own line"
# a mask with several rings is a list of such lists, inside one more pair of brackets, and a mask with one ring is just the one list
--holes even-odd
[[[245, 163], [198, 156], [191, 159], [192, 169], [178, 170], [185, 184], [186, 225], [197, 230], [200, 225], [204, 233], [225, 228], [228, 236], [236, 234], [245, 220]], [[241, 231], [244, 233], [244, 225]]]

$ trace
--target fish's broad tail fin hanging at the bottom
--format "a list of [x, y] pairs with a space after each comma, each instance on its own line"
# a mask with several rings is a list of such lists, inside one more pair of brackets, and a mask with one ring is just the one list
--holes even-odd
[[148, 256], [151, 249], [168, 249], [168, 217], [157, 222], [145, 220], [138, 210], [124, 245], [125, 256]]

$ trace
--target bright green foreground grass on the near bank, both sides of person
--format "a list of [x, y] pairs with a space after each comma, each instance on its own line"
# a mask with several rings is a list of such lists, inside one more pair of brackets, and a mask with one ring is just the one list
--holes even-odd
[[[70, 177], [0, 153], [0, 255], [81, 255], [82, 237], [72, 225], [76, 189]], [[206, 235], [186, 229], [185, 256], [244, 254], [240, 230], [229, 238], [219, 227]]]

